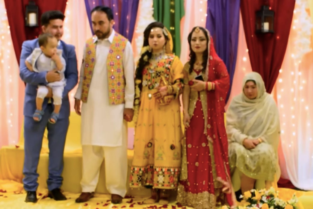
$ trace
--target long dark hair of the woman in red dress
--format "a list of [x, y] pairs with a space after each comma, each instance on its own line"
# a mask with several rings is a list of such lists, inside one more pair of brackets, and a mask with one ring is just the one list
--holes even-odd
[[[206, 31], [206, 29], [200, 27], [200, 26], [196, 26], [194, 28], [192, 28], [191, 32], [189, 33], [188, 35], [188, 43], [189, 43], [189, 50], [190, 50], [190, 54], [189, 54], [189, 57], [190, 57], [190, 61], [189, 61], [189, 64], [190, 64], [190, 68], [189, 68], [189, 73], [192, 73], [192, 70], [193, 70], [193, 65], [195, 64], [196, 62], [196, 53], [194, 53], [194, 51], [192, 51], [192, 48], [191, 48], [191, 36], [192, 36], [192, 33], [195, 31], [196, 28], [199, 28], [200, 30], [203, 31], [204, 33], [204, 36], [205, 38], [207, 39], [207, 45], [208, 45], [208, 41], [209, 41], [209, 37], [208, 37], [208, 33]], [[202, 54], [202, 59], [203, 59], [203, 63], [202, 63], [202, 72], [204, 73], [205, 70], [206, 70], [206, 67], [207, 67], [207, 62], [208, 62], [208, 56], [209, 56], [209, 52], [208, 52], [208, 47], [204, 50], [203, 54]]]

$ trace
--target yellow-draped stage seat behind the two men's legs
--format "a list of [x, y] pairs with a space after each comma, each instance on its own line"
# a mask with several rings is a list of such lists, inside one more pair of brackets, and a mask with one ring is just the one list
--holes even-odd
[[[129, 127], [133, 125], [128, 124]], [[17, 146], [3, 146], [0, 150], [0, 179], [14, 180], [22, 182], [23, 179], [23, 131]], [[45, 133], [46, 136], [46, 133]], [[130, 166], [133, 158], [133, 150], [127, 151], [128, 155], [128, 175], [130, 174]], [[46, 137], [43, 139], [43, 146], [40, 154], [38, 164], [38, 183], [40, 187], [47, 188], [46, 180], [48, 178], [48, 140]], [[70, 116], [69, 131], [66, 137], [64, 149], [64, 170], [63, 170], [63, 185], [61, 189], [72, 193], [80, 193], [80, 179], [82, 176], [82, 156], [81, 156], [81, 143], [80, 143], [80, 116], [74, 112]], [[104, 162], [100, 169], [100, 178], [96, 192], [107, 193], [105, 188], [105, 170]], [[149, 190], [128, 190], [129, 195], [146, 195]], [[0, 207], [1, 208], [1, 207]]]

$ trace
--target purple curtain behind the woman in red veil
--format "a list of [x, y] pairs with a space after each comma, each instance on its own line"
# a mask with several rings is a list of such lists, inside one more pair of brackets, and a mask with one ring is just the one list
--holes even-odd
[[207, 8], [206, 28], [214, 40], [214, 47], [218, 56], [226, 64], [230, 77], [230, 89], [236, 67], [238, 33], [239, 33], [240, 0], [210, 0]]

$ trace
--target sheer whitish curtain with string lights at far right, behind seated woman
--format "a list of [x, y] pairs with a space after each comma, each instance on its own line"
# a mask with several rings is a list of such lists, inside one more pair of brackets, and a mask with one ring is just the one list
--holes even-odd
[[296, 1], [288, 46], [276, 82], [281, 147], [296, 187], [313, 190], [313, 52], [306, 1]]

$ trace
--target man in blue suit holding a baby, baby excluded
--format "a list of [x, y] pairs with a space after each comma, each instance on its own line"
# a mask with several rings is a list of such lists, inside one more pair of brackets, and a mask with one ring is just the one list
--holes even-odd
[[51, 33], [58, 39], [58, 48], [63, 50], [63, 58], [66, 61], [64, 76], [66, 86], [62, 96], [62, 105], [59, 113], [59, 119], [55, 124], [49, 123], [49, 118], [54, 110], [52, 100], [52, 91], [44, 99], [42, 120], [36, 122], [33, 120], [33, 113], [36, 110], [37, 86], [46, 85], [50, 82], [59, 81], [60, 75], [54, 71], [49, 72], [31, 72], [25, 66], [25, 59], [32, 53], [34, 48], [39, 47], [38, 38], [24, 41], [20, 57], [20, 77], [26, 83], [25, 101], [24, 101], [24, 168], [23, 184], [27, 191], [26, 202], [36, 202], [38, 187], [37, 167], [44, 130], [48, 130], [49, 140], [49, 177], [47, 185], [49, 197], [54, 200], [66, 200], [66, 197], [60, 191], [63, 178], [63, 152], [66, 133], [69, 127], [69, 97], [68, 93], [77, 84], [78, 71], [75, 48], [61, 41], [63, 35], [64, 14], [60, 11], [48, 11], [41, 16], [41, 25], [43, 33]]

